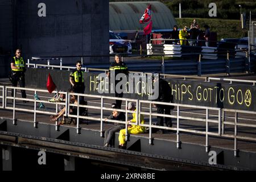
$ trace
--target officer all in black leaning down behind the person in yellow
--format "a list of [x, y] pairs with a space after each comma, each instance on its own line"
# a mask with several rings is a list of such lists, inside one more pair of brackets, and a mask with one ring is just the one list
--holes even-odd
[[[155, 74], [154, 74], [155, 75]], [[163, 80], [162, 78], [159, 77], [154, 77], [152, 74], [152, 80], [154, 82], [158, 81], [159, 82], [159, 95], [158, 98], [155, 101], [158, 102], [173, 102], [173, 96], [172, 96], [172, 89], [168, 82], [166, 80]], [[158, 114], [170, 114], [171, 115], [171, 109], [174, 109], [174, 106], [168, 106], [168, 105], [160, 105], [157, 104], [155, 105], [157, 107], [157, 113]], [[165, 123], [167, 127], [172, 127], [172, 120], [169, 117], [165, 117]], [[156, 125], [159, 126], [164, 126], [163, 124], [163, 117], [158, 116], [157, 117], [157, 122]], [[163, 133], [163, 130], [154, 130], [156, 133]]]

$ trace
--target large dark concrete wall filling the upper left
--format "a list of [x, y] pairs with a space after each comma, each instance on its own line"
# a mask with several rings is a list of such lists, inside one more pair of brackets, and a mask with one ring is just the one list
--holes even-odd
[[[0, 10], [11, 0], [1, 3]], [[46, 17], [39, 17], [39, 3], [46, 4]], [[32, 56], [109, 55], [109, 1], [108, 0], [14, 0], [14, 46], [22, 48], [23, 58]], [[5, 10], [3, 19], [10, 19]], [[2, 22], [1, 22], [2, 23]], [[12, 24], [5, 24], [9, 30]], [[2, 28], [1, 28], [2, 30]], [[1, 36], [11, 32], [2, 30]], [[5, 39], [0, 45], [10, 49]], [[74, 60], [75, 61], [75, 60]], [[87, 59], [93, 63], [107, 58]]]

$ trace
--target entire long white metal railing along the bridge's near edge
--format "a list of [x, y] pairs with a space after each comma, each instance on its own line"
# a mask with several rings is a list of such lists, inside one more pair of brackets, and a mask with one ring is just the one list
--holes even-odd
[[[109, 107], [105, 107], [104, 104], [106, 104], [105, 100], [122, 100], [125, 101], [125, 109], [117, 109], [117, 111], [121, 111], [123, 113], [125, 113], [126, 115], [126, 121], [115, 121], [115, 120], [110, 120], [110, 119], [106, 119], [106, 121], [108, 122], [113, 122], [113, 123], [122, 123], [125, 125], [125, 129], [126, 129], [126, 141], [129, 139], [129, 135], [127, 133], [127, 118], [128, 118], [128, 113], [136, 113], [137, 115], [137, 121], [136, 123], [134, 123], [133, 125], [139, 125], [139, 126], [144, 126], [144, 127], [149, 127], [149, 136], [148, 136], [148, 140], [149, 140], [149, 144], [153, 144], [153, 138], [152, 138], [152, 129], [165, 129], [165, 130], [173, 130], [176, 131], [176, 147], [180, 148], [181, 145], [181, 140], [180, 140], [180, 133], [193, 133], [193, 134], [200, 134], [200, 135], [205, 135], [205, 151], [209, 152], [209, 137], [221, 137], [221, 138], [232, 138], [234, 139], [234, 156], [238, 155], [238, 147], [237, 147], [237, 140], [250, 140], [250, 141], [254, 141], [256, 142], [256, 138], [255, 137], [246, 137], [246, 136], [241, 136], [238, 135], [237, 133], [237, 126], [244, 126], [244, 127], [252, 127], [252, 128], [256, 128], [256, 125], [254, 124], [249, 124], [249, 123], [238, 123], [238, 113], [244, 113], [244, 114], [253, 114], [256, 115], [256, 111], [245, 111], [245, 110], [234, 110], [234, 109], [221, 109], [221, 108], [217, 108], [217, 107], [206, 107], [206, 106], [195, 106], [195, 105], [184, 105], [184, 104], [174, 104], [174, 103], [167, 103], [167, 102], [157, 102], [157, 101], [143, 101], [143, 100], [134, 100], [134, 99], [130, 99], [130, 98], [118, 98], [118, 97], [109, 97], [109, 96], [99, 96], [99, 95], [91, 95], [91, 94], [78, 94], [78, 93], [68, 93], [68, 92], [59, 92], [59, 93], [63, 93], [65, 94], [65, 98], [68, 98], [65, 100], [65, 102], [49, 102], [46, 100], [36, 100], [36, 98], [31, 99], [31, 98], [20, 98], [20, 97], [15, 97], [15, 93], [16, 90], [18, 89], [23, 89], [23, 90], [29, 90], [34, 92], [35, 94], [37, 94], [38, 92], [43, 92], [43, 93], [48, 93], [47, 90], [41, 90], [41, 89], [30, 89], [30, 88], [19, 88], [19, 87], [14, 87], [14, 86], [1, 86], [1, 88], [3, 88], [3, 90], [5, 90], [5, 92], [2, 92], [2, 96], [1, 98], [4, 98], [4, 102], [5, 102], [5, 109], [9, 109], [9, 110], [13, 110], [13, 124], [16, 125], [16, 111], [26, 111], [28, 113], [34, 113], [34, 127], [38, 127], [37, 125], [37, 121], [36, 121], [36, 114], [56, 114], [57, 113], [57, 106], [58, 105], [65, 105], [65, 108], [68, 108], [65, 110], [65, 114], [64, 116], [67, 117], [72, 117], [72, 118], [76, 118], [77, 119], [77, 123], [76, 123], [76, 130], [77, 130], [77, 134], [80, 134], [80, 123], [79, 123], [79, 119], [83, 118], [83, 119], [90, 119], [93, 121], [99, 121], [100, 122], [100, 133], [101, 133], [101, 137], [104, 137], [103, 133], [104, 133], [104, 110], [108, 110], [108, 111], [113, 111], [112, 108]], [[7, 90], [9, 89], [14, 89], [14, 97], [11, 96], [7, 96]], [[53, 92], [53, 93], [57, 93], [57, 92]], [[76, 96], [77, 97], [77, 104], [69, 104], [69, 100], [71, 98], [71, 96]], [[79, 101], [80, 101], [80, 97], [89, 97], [89, 98], [96, 98], [96, 99], [100, 99], [100, 106], [92, 106], [92, 105], [80, 105]], [[7, 106], [7, 100], [13, 100], [13, 106]], [[16, 105], [16, 101], [30, 101], [30, 102], [34, 102], [34, 109], [26, 109], [26, 108], [20, 108], [18, 107], [18, 105]], [[130, 111], [127, 110], [127, 104], [128, 101], [130, 102], [135, 102], [136, 103], [136, 107], [137, 110], [136, 111]], [[42, 111], [42, 110], [37, 110], [37, 106], [36, 104], [38, 102], [42, 102], [42, 103], [46, 103], [46, 104], [52, 104], [56, 106], [56, 112], [53, 111]], [[142, 105], [149, 105], [149, 111], [144, 111], [142, 110]], [[154, 113], [152, 111], [152, 106], [153, 105], [168, 105], [168, 106], [176, 106], [176, 115], [168, 115], [168, 114], [158, 114], [158, 113]], [[69, 113], [69, 109], [70, 107], [77, 107], [77, 113], [76, 114], [72, 114]], [[100, 110], [100, 117], [92, 117], [92, 116], [82, 116], [80, 115], [80, 107], [85, 107], [87, 109], [97, 109]], [[148, 109], [148, 107], [146, 107], [146, 109]], [[192, 108], [192, 109], [199, 109], [199, 110], [204, 110], [203, 113], [205, 113], [205, 117], [190, 117], [190, 116], [184, 116], [180, 114], [180, 110], [181, 107], [186, 107], [186, 108]], [[144, 107], [143, 107], [144, 108]], [[217, 115], [217, 119], [210, 119], [209, 117], [209, 111], [217, 111], [218, 115]], [[230, 121], [225, 121], [225, 112], [233, 112], [235, 114], [234, 117], [234, 122], [230, 122]], [[149, 123], [141, 123], [141, 115], [147, 115], [149, 117]], [[169, 118], [175, 118], [176, 119], [176, 127], [167, 127], [167, 126], [157, 126], [157, 125], [152, 125], [152, 117], [169, 117]], [[185, 121], [196, 121], [196, 122], [204, 122], [205, 123], [205, 131], [202, 130], [193, 130], [193, 129], [184, 129], [181, 128], [181, 119], [185, 120]], [[209, 123], [215, 123], [217, 124], [217, 132], [212, 132], [209, 131]], [[234, 125], [234, 134], [225, 134], [225, 125]], [[58, 122], [56, 121], [56, 130], [59, 130], [59, 125]]]

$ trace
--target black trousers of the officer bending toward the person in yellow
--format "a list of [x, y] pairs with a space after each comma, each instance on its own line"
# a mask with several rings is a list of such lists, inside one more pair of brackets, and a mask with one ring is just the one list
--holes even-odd
[[[157, 105], [157, 113], [158, 114], [170, 114], [171, 115], [171, 108], [170, 108], [170, 106], [167, 106], [167, 105]], [[158, 122], [156, 123], [156, 125], [164, 126], [163, 125], [163, 118], [165, 118], [166, 126], [171, 127], [172, 126], [172, 118], [168, 118], [168, 117], [158, 116], [157, 117]]]

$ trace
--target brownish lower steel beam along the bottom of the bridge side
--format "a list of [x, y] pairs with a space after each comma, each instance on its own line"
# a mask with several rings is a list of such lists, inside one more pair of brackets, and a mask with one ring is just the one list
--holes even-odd
[[126, 154], [119, 151], [100, 150], [97, 148], [88, 148], [80, 146], [71, 146], [64, 143], [49, 142], [47, 140], [38, 140], [34, 138], [24, 138], [0, 134], [1, 145], [29, 148], [32, 150], [43, 150], [56, 154], [76, 156], [92, 160], [123, 164], [127, 166], [142, 167], [156, 170], [174, 170], [174, 169], [196, 169], [212, 170], [213, 168], [196, 166], [192, 164], [177, 163], [170, 160], [150, 158], [148, 156], [139, 156], [135, 154]]

